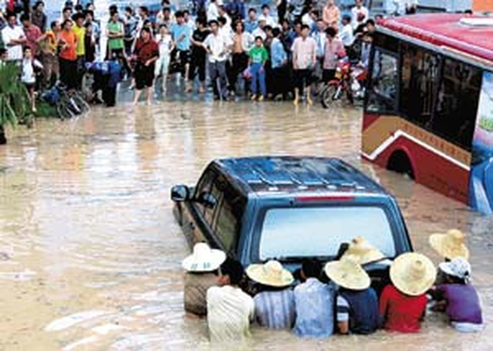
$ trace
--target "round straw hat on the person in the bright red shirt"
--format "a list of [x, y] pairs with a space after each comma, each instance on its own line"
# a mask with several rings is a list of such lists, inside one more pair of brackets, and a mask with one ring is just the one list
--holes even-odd
[[436, 277], [433, 262], [421, 253], [403, 253], [390, 266], [390, 280], [398, 290], [410, 296], [424, 294]]

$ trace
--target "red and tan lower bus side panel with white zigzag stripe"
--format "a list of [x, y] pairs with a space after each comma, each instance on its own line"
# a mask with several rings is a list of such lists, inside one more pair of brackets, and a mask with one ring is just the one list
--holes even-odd
[[469, 203], [469, 152], [399, 116], [365, 113], [362, 129], [366, 160], [389, 168], [392, 155], [405, 154], [416, 182]]

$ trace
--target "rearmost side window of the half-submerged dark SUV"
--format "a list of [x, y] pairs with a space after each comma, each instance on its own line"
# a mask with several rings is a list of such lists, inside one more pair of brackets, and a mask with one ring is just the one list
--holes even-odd
[[215, 233], [227, 253], [235, 250], [245, 205], [245, 198], [231, 185], [224, 189], [216, 216]]

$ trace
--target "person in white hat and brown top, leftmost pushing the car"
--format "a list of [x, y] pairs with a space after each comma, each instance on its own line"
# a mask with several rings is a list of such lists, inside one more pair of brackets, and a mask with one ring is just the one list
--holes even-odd
[[217, 285], [215, 271], [226, 259], [223, 251], [211, 249], [206, 243], [197, 243], [192, 255], [181, 265], [185, 269], [183, 302], [185, 311], [197, 316], [207, 314], [207, 289]]

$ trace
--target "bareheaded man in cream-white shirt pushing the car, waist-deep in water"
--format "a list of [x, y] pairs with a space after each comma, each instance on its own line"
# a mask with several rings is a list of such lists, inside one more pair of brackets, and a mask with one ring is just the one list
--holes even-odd
[[241, 263], [226, 259], [219, 267], [219, 286], [207, 290], [207, 324], [213, 342], [238, 342], [250, 336], [255, 304], [239, 288], [242, 278]]

